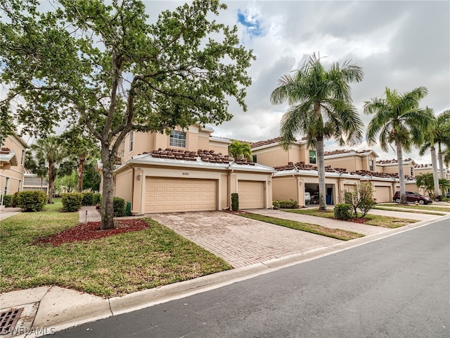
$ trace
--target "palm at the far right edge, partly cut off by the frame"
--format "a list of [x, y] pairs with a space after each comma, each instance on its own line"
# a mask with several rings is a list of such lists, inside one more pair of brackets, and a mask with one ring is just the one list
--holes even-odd
[[[426, 108], [432, 113], [430, 108]], [[423, 156], [425, 152], [430, 149], [431, 153], [431, 162], [432, 162], [432, 170], [433, 170], [433, 184], [435, 187], [435, 198], [440, 196], [439, 192], [439, 176], [437, 173], [437, 158], [436, 158], [436, 147], [435, 144], [438, 145], [438, 156], [439, 156], [439, 165], [441, 168], [441, 178], [444, 178], [444, 162], [442, 157], [442, 144], [446, 144], [447, 146], [450, 144], [450, 111], [444, 111], [434, 118], [433, 123], [430, 123], [429, 130], [425, 132], [428, 138], [428, 142], [425, 142], [420, 147], [419, 155]]]

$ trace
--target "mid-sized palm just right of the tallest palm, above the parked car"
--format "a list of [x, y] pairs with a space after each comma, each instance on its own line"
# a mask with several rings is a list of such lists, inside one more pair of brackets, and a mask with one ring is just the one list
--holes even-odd
[[385, 89], [385, 98], [375, 98], [366, 101], [364, 113], [375, 114], [366, 131], [368, 144], [375, 144], [375, 138], [380, 134], [380, 146], [383, 151], [394, 143], [397, 151], [400, 181], [400, 204], [406, 202], [406, 184], [403, 170], [403, 151], [411, 151], [413, 144], [423, 142], [423, 132], [429, 129], [433, 115], [429, 110], [420, 109], [419, 101], [428, 94], [425, 87], [418, 87], [399, 94], [396, 90]]

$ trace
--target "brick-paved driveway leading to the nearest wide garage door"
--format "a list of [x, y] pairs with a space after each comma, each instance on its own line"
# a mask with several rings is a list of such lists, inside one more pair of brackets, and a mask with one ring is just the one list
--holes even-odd
[[342, 242], [223, 211], [157, 213], [148, 216], [223, 258], [233, 268]]

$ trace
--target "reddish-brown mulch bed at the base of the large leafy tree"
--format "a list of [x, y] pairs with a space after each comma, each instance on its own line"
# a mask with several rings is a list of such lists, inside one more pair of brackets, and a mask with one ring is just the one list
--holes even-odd
[[150, 225], [142, 219], [127, 219], [118, 220], [114, 229], [98, 230], [99, 227], [100, 222], [80, 223], [76, 227], [70, 227], [49, 237], [36, 239], [33, 244], [50, 243], [53, 246], [59, 246], [70, 242], [90, 241], [91, 239], [108, 237], [113, 234], [143, 230], [150, 227]]

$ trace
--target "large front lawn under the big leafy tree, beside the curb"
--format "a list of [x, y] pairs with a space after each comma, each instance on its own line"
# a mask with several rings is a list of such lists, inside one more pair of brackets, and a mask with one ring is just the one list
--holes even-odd
[[61, 204], [1, 222], [0, 292], [58, 285], [97, 296], [120, 296], [231, 269], [209, 251], [146, 218], [146, 230], [60, 246], [33, 240], [74, 227], [78, 213]]

